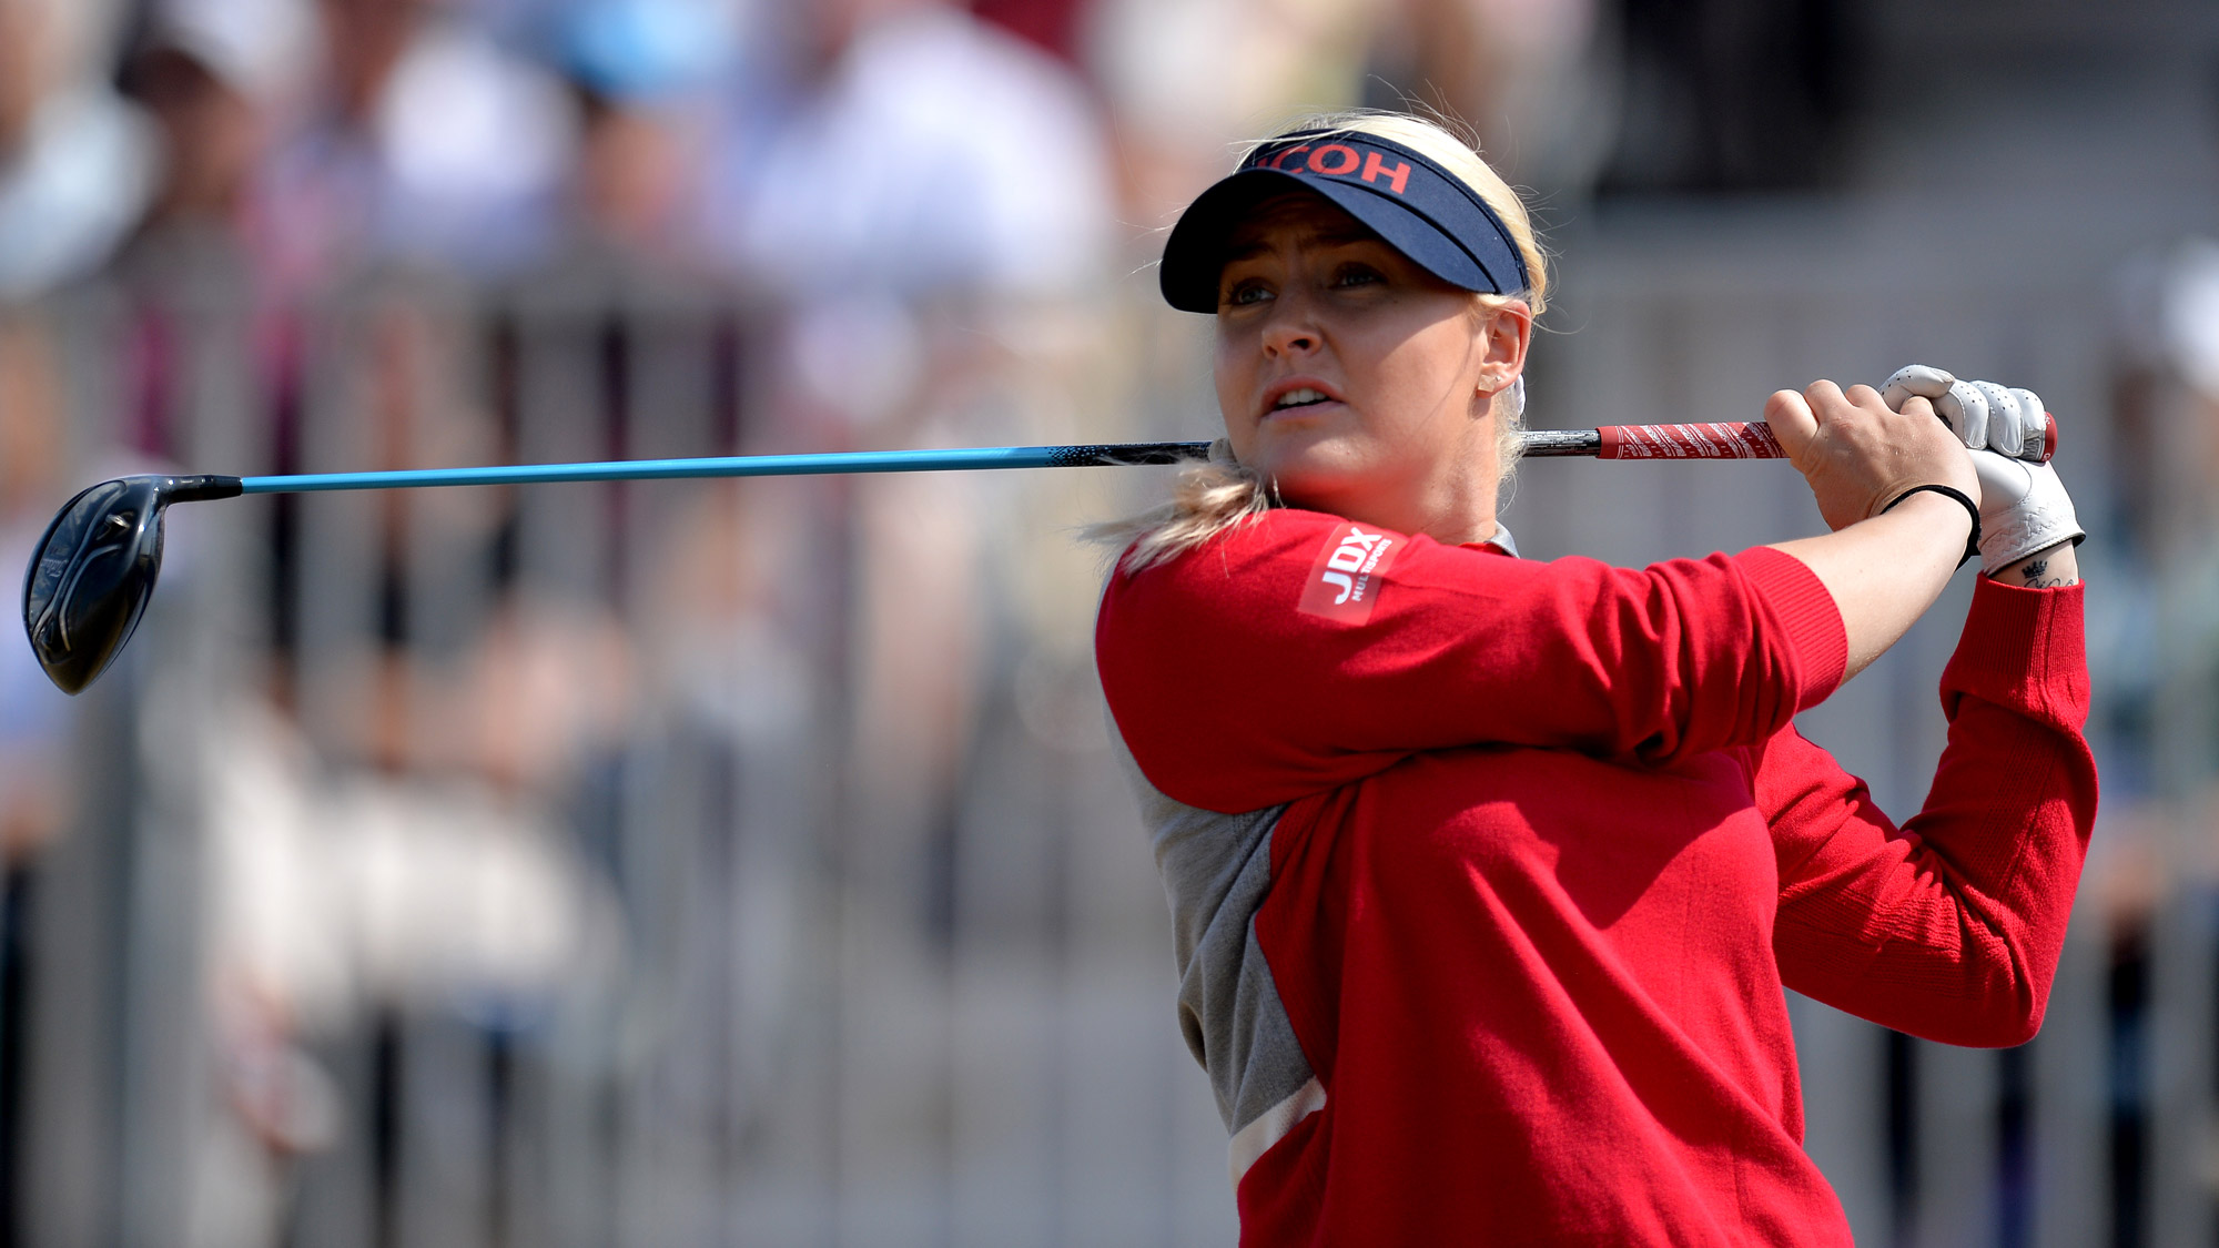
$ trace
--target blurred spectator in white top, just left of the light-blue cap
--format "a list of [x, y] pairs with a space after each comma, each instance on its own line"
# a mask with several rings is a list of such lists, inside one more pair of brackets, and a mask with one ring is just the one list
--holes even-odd
[[280, 273], [499, 273], [553, 242], [577, 113], [561, 82], [430, 0], [322, 0], [326, 87], [262, 187]]

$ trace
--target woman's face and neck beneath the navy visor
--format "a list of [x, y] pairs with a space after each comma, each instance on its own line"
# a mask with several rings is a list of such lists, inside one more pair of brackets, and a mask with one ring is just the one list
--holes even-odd
[[1309, 191], [1265, 200], [1218, 275], [1218, 409], [1280, 497], [1442, 542], [1496, 531], [1493, 395], [1524, 304], [1487, 309]]

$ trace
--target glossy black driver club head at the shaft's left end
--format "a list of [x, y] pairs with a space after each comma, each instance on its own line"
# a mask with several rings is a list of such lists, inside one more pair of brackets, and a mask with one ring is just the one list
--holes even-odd
[[237, 477], [140, 475], [100, 482], [69, 500], [40, 537], [22, 584], [22, 628], [47, 680], [78, 693], [131, 640], [162, 571], [169, 504], [237, 493]]

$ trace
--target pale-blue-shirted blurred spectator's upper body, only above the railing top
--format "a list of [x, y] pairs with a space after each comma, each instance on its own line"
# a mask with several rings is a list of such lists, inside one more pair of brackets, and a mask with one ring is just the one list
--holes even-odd
[[734, 118], [717, 187], [748, 280], [1058, 295], [1103, 275], [1103, 140], [1072, 73], [936, 0], [823, 0], [797, 33], [792, 95]]

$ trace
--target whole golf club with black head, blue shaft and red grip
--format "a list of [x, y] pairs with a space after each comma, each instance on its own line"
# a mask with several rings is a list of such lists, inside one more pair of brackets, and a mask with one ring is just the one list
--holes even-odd
[[[2057, 449], [2050, 420], [2028, 460]], [[1615, 424], [1533, 429], [1524, 455], [1598, 460], [1780, 460], [1764, 424]], [[790, 477], [825, 473], [934, 473], [959, 469], [1081, 469], [1207, 460], [1209, 442], [1116, 442], [1081, 446], [963, 446], [950, 451], [848, 451], [825, 455], [721, 455], [703, 460], [610, 460], [597, 464], [495, 464], [384, 473], [280, 477], [135, 475], [78, 493], [47, 526], [22, 586], [22, 624], [38, 666], [64, 693], [93, 684], [131, 640], [162, 571], [162, 520], [173, 502], [253, 493], [311, 493], [544, 482], [650, 482], [681, 477]]]

